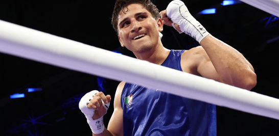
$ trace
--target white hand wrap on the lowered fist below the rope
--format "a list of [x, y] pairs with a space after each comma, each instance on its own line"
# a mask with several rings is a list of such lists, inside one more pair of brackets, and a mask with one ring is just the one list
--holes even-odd
[[[89, 93], [86, 93], [79, 102], [79, 108], [81, 110], [81, 112], [85, 115], [86, 119], [87, 119], [87, 123], [89, 124], [92, 133], [95, 134], [99, 134], [101, 132], [104, 131], [105, 126], [103, 123], [103, 116], [97, 120], [93, 120], [92, 117], [95, 113], [95, 110], [93, 110], [92, 108], [88, 108], [87, 104], [90, 103], [90, 100], [93, 99], [93, 96], [95, 96], [96, 93], [99, 93], [99, 91], [94, 90], [91, 91]], [[107, 111], [108, 107], [109, 107], [109, 102], [107, 104], [104, 103], [104, 101], [102, 100], [103, 105]]]

